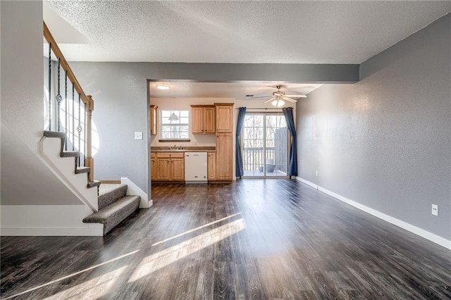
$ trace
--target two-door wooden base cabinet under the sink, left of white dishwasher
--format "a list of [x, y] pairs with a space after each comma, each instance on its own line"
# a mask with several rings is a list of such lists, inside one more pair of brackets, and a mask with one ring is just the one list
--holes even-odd
[[185, 159], [183, 152], [157, 152], [155, 164], [155, 180], [185, 180]]

